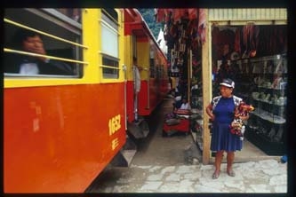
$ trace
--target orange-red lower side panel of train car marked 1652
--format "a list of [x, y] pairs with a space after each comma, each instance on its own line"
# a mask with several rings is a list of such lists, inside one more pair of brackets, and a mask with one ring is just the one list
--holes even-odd
[[5, 89], [4, 192], [84, 192], [125, 143], [123, 85]]

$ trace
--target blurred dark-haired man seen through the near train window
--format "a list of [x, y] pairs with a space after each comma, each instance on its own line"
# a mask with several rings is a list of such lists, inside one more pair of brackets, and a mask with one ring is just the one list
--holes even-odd
[[[12, 50], [46, 55], [42, 36], [34, 31], [20, 28], [10, 43]], [[4, 56], [4, 73], [23, 75], [74, 75], [72, 67], [54, 59], [7, 53]]]

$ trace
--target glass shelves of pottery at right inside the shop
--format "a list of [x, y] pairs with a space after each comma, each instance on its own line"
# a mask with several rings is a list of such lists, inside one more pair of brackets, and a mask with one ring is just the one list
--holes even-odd
[[[242, 60], [237, 60], [242, 65]], [[248, 84], [248, 90], [236, 91], [255, 107], [247, 123], [246, 138], [266, 154], [284, 153], [285, 112], [287, 104], [287, 60], [285, 54], [248, 59], [249, 78], [237, 82]], [[241, 72], [243, 75], [244, 72]]]

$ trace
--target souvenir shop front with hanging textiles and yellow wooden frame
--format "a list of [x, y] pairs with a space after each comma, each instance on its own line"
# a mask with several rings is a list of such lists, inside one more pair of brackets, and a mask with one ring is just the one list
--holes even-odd
[[224, 77], [255, 107], [236, 162], [285, 154], [286, 9], [158, 9], [156, 20], [165, 22], [169, 72], [196, 114], [191, 130], [203, 163], [214, 160], [204, 109]]

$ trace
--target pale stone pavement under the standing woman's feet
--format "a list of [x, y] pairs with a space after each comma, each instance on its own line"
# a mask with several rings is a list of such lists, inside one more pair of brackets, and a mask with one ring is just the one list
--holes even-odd
[[[287, 193], [287, 163], [271, 159], [234, 163], [233, 168], [236, 177], [229, 177], [222, 163], [220, 177], [212, 179], [212, 165], [132, 165], [111, 169], [94, 189], [96, 193]], [[116, 177], [110, 176], [114, 173]]]

